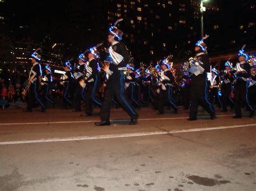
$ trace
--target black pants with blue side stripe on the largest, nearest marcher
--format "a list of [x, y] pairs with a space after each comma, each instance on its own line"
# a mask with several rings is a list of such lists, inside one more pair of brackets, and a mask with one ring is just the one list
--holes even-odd
[[103, 121], [109, 121], [110, 119], [110, 109], [113, 95], [116, 95], [118, 103], [127, 112], [127, 114], [129, 114], [130, 117], [137, 116], [137, 113], [124, 97], [123, 70], [114, 70], [113, 74], [109, 77], [109, 81], [107, 81], [104, 101], [100, 110], [100, 119]]

